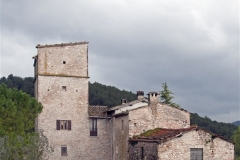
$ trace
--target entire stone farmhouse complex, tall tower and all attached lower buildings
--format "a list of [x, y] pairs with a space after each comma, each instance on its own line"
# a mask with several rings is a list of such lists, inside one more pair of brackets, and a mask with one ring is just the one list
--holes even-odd
[[88, 42], [37, 45], [35, 97], [52, 160], [234, 160], [234, 144], [190, 126], [190, 113], [157, 92], [112, 108], [89, 106]]

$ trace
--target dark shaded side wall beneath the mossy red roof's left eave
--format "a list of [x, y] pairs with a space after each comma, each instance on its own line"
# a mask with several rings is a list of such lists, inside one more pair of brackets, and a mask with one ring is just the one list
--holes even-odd
[[129, 142], [129, 160], [157, 160], [158, 144], [155, 142]]

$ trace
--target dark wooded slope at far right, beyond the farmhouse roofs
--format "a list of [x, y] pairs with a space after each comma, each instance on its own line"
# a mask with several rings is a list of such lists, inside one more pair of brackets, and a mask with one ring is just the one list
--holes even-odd
[[197, 113], [191, 113], [190, 118], [191, 125], [198, 125], [204, 130], [221, 135], [227, 139], [231, 139], [233, 132], [237, 129], [237, 126], [231, 123], [212, 121], [207, 116], [204, 118], [200, 117]]

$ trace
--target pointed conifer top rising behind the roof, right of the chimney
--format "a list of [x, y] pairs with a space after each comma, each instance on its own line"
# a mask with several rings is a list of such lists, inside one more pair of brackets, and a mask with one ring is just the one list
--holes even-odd
[[179, 104], [176, 104], [176, 103], [172, 102], [172, 99], [174, 98], [174, 96], [172, 96], [173, 92], [171, 92], [168, 89], [168, 85], [167, 85], [166, 82], [162, 84], [162, 87], [163, 87], [163, 90], [159, 91], [160, 101], [165, 103], [165, 104], [168, 104], [172, 107], [180, 108]]

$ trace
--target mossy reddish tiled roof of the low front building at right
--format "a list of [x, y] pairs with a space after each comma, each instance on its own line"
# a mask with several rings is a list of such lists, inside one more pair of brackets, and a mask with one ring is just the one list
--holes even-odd
[[[147, 131], [139, 136], [134, 136], [132, 139], [130, 139], [129, 141], [151, 141], [151, 142], [166, 142], [172, 138], [175, 137], [180, 137], [182, 136], [184, 133], [190, 132], [190, 131], [194, 131], [194, 130], [199, 130], [200, 128], [197, 126], [192, 126], [189, 128], [181, 128], [181, 129], [166, 129], [166, 128], [156, 128], [154, 130], [150, 130]], [[203, 129], [201, 129], [203, 130]], [[206, 130], [203, 130], [205, 132], [208, 132]], [[210, 132], [208, 132], [210, 133]], [[211, 134], [211, 133], [210, 133]], [[212, 134], [213, 138], [221, 138], [225, 141], [228, 141], [230, 143], [233, 143], [232, 141], [220, 136], [220, 135], [215, 135]]]

